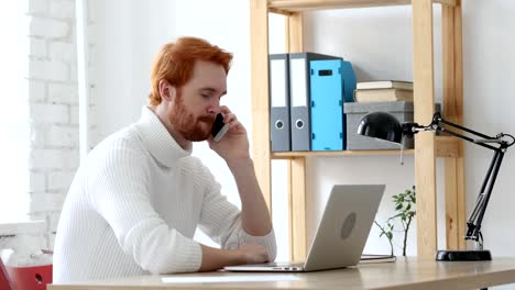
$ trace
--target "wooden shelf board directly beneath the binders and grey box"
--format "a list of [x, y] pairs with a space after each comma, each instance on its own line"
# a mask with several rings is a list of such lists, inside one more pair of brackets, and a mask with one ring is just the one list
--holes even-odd
[[[459, 156], [459, 140], [449, 136], [436, 136], [437, 156], [438, 157], [458, 157]], [[406, 149], [404, 154], [414, 154], [415, 149]], [[314, 156], [366, 156], [366, 155], [395, 155], [401, 154], [399, 149], [390, 150], [341, 150], [341, 152], [276, 152], [272, 153], [272, 159], [291, 159], [296, 157], [314, 157]]]

